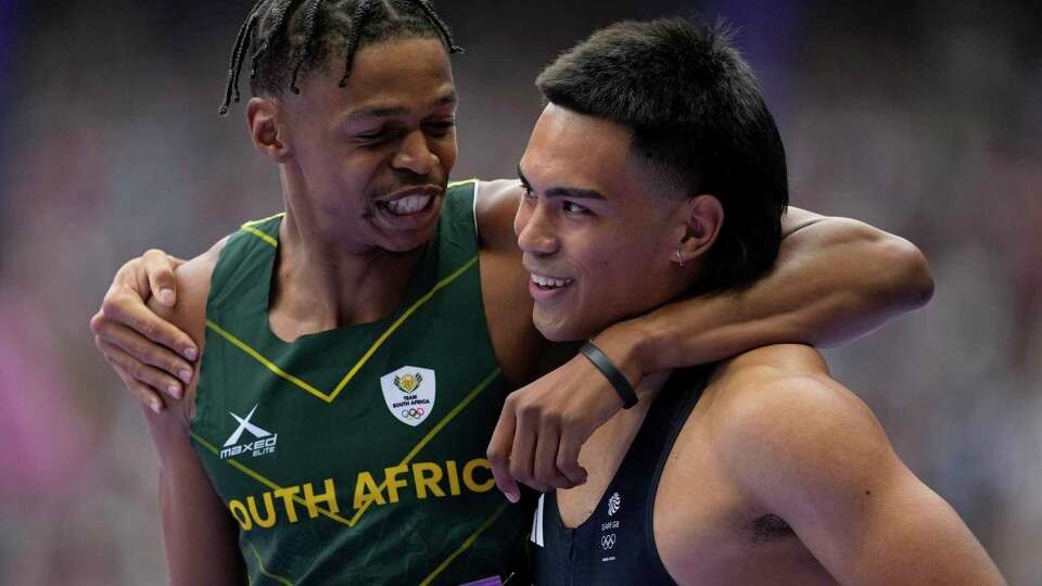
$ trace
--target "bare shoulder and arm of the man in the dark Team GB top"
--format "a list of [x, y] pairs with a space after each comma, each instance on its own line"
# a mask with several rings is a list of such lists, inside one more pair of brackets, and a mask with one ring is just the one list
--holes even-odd
[[842, 584], [1004, 583], [958, 514], [904, 466], [816, 353], [758, 353], [782, 355], [780, 369], [802, 360], [811, 371], [739, 375], [734, 384], [754, 388], [724, 398], [712, 417], [714, 450], [762, 512], [786, 520]]

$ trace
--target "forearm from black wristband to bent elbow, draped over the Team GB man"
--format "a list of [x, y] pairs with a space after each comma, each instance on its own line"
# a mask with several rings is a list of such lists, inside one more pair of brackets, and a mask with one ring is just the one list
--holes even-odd
[[789, 233], [774, 269], [751, 288], [676, 301], [617, 323], [597, 342], [639, 378], [767, 344], [843, 343], [925, 304], [932, 286], [907, 241], [823, 218]]

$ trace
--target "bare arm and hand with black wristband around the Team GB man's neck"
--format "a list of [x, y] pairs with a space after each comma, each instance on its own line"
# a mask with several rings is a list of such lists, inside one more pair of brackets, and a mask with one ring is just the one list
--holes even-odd
[[[901, 238], [798, 208], [789, 208], [783, 230], [774, 269], [750, 289], [675, 301], [615, 323], [594, 342], [636, 387], [647, 373], [766, 344], [848, 341], [932, 294], [926, 259]], [[499, 489], [514, 499], [516, 481], [543, 491], [584, 482], [580, 447], [621, 407], [614, 390], [583, 356], [512, 393], [487, 450]], [[522, 434], [537, 434], [538, 442], [518, 442]], [[557, 444], [544, 446], [547, 437]], [[516, 455], [518, 445], [538, 446], [542, 456]]]

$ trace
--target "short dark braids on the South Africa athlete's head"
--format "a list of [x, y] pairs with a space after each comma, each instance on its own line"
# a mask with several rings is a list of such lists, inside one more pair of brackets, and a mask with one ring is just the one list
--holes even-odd
[[239, 74], [250, 48], [250, 89], [254, 95], [300, 93], [300, 75], [321, 68], [341, 52], [347, 85], [359, 47], [390, 39], [433, 37], [449, 53], [463, 50], [428, 0], [258, 0], [236, 37], [228, 65], [221, 116], [239, 102]]

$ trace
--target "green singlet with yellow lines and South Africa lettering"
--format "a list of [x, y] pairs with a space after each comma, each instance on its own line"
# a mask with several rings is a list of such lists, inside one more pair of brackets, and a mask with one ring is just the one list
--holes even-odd
[[401, 307], [292, 343], [268, 328], [282, 216], [225, 245], [191, 436], [252, 584], [523, 572], [531, 513], [495, 489], [484, 457], [509, 390], [482, 305], [475, 190], [448, 190]]

